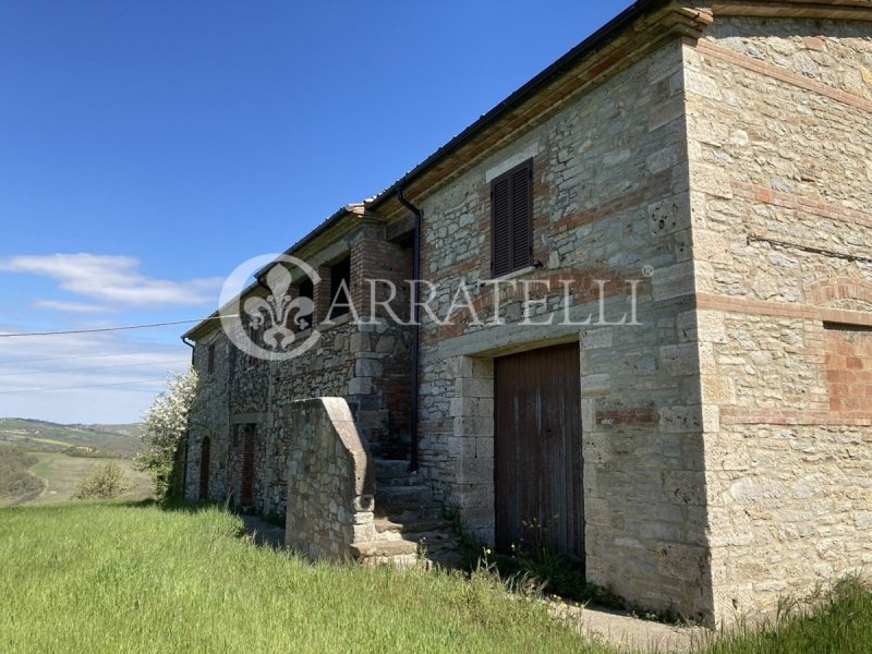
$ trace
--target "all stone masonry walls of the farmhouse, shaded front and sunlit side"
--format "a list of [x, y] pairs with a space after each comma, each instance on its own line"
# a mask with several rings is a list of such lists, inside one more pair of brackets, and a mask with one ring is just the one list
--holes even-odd
[[[533, 104], [517, 108], [471, 150], [481, 160], [443, 162], [436, 186], [414, 190], [435, 287], [413, 419], [421, 479], [493, 542], [494, 359], [580, 342], [589, 580], [714, 622], [872, 561], [872, 35], [715, 12], [695, 41], [711, 14], [682, 20], [685, 38], [661, 31], [633, 64], [627, 41], [597, 53], [584, 95], [552, 88], [559, 110], [525, 122]], [[489, 181], [526, 159], [535, 266], [497, 287]], [[409, 249], [360, 216], [344, 241], [301, 254], [325, 279], [350, 256], [356, 308], [376, 319], [318, 325], [318, 346], [279, 364], [233, 363], [220, 335], [198, 338], [198, 368], [208, 343], [220, 354], [192, 416], [189, 496], [205, 435], [209, 496], [235, 493], [238, 424], [259, 434], [256, 510], [311, 493], [289, 461], [302, 470], [325, 432], [299, 434], [315, 419], [294, 400], [347, 397], [374, 445], [408, 426], [410, 331], [359, 300], [363, 279], [410, 276]], [[338, 492], [338, 469], [318, 461], [322, 491]], [[326, 507], [342, 534], [304, 518], [311, 556], [356, 537], [343, 497], [346, 513]]]

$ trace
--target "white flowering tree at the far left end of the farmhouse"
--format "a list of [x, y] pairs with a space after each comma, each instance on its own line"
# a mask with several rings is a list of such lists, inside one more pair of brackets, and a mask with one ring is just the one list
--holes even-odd
[[196, 390], [197, 373], [189, 368], [167, 380], [167, 390], [158, 393], [143, 415], [141, 438], [145, 448], [136, 456], [136, 468], [152, 476], [159, 500], [169, 496], [175, 452], [187, 431], [187, 415]]

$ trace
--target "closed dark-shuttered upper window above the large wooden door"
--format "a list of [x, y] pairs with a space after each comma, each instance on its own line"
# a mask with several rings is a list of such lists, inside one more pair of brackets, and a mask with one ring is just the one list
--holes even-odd
[[533, 159], [491, 182], [491, 274], [533, 263]]

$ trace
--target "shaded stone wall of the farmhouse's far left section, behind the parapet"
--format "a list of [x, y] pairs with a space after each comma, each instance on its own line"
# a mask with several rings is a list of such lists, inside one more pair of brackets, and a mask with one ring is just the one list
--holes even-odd
[[[356, 312], [332, 322], [318, 320], [317, 343], [288, 361], [268, 362], [230, 343], [220, 326], [198, 337], [194, 365], [201, 374], [199, 403], [191, 419], [185, 495], [198, 496], [199, 452], [203, 437], [211, 443], [209, 499], [241, 506], [243, 433], [254, 429], [252, 504], [243, 508], [265, 516], [284, 516], [288, 457], [293, 449], [288, 411], [295, 400], [342, 397], [348, 400], [362, 435], [377, 452], [393, 453], [408, 443], [410, 424], [409, 361], [411, 329], [377, 314], [356, 296], [362, 276], [389, 279], [399, 289], [390, 304], [398, 315], [408, 314], [411, 256], [408, 247], [379, 241], [384, 230], [370, 226], [349, 245], [352, 259], [351, 291]], [[366, 238], [363, 238], [363, 237]], [[341, 256], [341, 249], [338, 250]], [[315, 262], [317, 264], [317, 261]], [[329, 266], [316, 266], [325, 291], [316, 288], [316, 314], [324, 317], [332, 301]], [[326, 282], [325, 282], [326, 280]], [[328, 299], [329, 298], [329, 299]], [[386, 298], [383, 298], [386, 300]], [[404, 312], [404, 313], [403, 313]], [[360, 318], [355, 322], [356, 317]], [[295, 334], [304, 342], [312, 331]], [[215, 344], [216, 370], [207, 372], [208, 348]]]

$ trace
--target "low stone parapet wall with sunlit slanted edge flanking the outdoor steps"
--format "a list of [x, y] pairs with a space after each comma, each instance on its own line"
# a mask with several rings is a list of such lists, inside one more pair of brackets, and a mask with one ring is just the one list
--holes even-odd
[[299, 400], [288, 428], [284, 544], [310, 559], [341, 560], [375, 540], [375, 476], [366, 440], [342, 398]]

